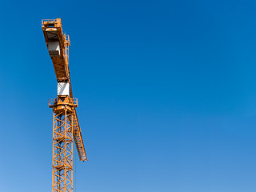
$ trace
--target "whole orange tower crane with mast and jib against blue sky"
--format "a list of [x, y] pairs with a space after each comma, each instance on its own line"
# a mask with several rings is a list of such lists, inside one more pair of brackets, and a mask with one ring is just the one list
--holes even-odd
[[73, 142], [80, 161], [87, 158], [70, 81], [70, 38], [63, 34], [60, 18], [43, 19], [42, 31], [57, 78], [57, 98], [49, 100], [54, 112], [52, 192], [73, 192]]

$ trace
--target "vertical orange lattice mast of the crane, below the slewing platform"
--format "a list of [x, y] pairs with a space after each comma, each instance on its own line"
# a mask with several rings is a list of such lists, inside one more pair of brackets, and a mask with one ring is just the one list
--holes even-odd
[[[59, 106], [63, 107], [58, 110]], [[66, 105], [54, 107], [53, 191], [73, 189], [73, 116], [74, 111]]]

